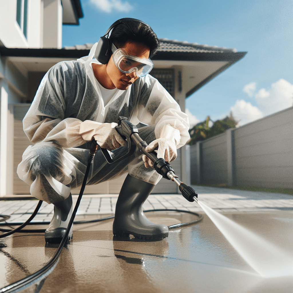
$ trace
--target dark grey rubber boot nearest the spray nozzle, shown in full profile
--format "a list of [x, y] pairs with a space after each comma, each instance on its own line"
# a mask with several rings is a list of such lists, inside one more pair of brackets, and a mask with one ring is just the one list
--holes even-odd
[[142, 205], [155, 185], [127, 175], [122, 185], [115, 211], [113, 234], [115, 236], [144, 240], [162, 240], [169, 235], [166, 225], [154, 224], [142, 211]]

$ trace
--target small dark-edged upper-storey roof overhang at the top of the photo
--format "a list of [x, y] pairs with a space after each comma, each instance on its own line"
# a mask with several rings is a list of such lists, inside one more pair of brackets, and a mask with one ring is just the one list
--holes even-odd
[[83, 18], [80, 0], [61, 0], [62, 1], [62, 23], [69, 25], [79, 25], [79, 18]]

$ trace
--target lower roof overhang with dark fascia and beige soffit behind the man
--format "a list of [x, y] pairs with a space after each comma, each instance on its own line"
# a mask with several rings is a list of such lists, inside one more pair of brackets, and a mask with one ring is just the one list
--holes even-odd
[[[0, 55], [8, 59], [27, 76], [29, 71], [48, 71], [64, 60], [76, 60], [87, 56], [89, 50], [18, 49], [0, 47]], [[245, 56], [246, 52], [163, 52], [152, 58], [154, 68], [182, 67], [185, 97]]]

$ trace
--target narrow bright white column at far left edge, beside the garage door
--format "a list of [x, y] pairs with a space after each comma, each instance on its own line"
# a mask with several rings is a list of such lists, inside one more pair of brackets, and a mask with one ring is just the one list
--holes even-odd
[[0, 110], [0, 196], [6, 195], [6, 171], [7, 171], [7, 117], [8, 117], [8, 93], [1, 87]]

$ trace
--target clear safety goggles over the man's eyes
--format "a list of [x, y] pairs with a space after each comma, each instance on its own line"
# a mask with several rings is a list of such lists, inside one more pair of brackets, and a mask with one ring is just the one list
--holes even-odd
[[127, 54], [124, 49], [117, 49], [112, 43], [113, 60], [117, 68], [124, 73], [135, 71], [139, 77], [146, 76], [154, 67], [150, 59], [141, 59]]

